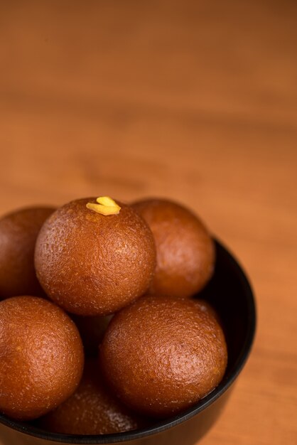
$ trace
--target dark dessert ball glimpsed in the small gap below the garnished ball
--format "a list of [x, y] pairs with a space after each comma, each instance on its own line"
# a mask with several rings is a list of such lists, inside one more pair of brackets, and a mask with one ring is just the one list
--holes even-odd
[[84, 317], [73, 313], [71, 318], [80, 332], [85, 353], [87, 355], [97, 355], [98, 346], [102, 342], [104, 332], [112, 319], [112, 315]]

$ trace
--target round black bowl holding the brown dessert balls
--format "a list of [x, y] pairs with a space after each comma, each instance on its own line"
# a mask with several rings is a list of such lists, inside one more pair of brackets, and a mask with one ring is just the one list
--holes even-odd
[[119, 434], [79, 436], [53, 434], [0, 414], [0, 439], [5, 445], [116, 444], [191, 445], [210, 429], [227, 401], [233, 383], [247, 360], [254, 339], [256, 309], [251, 286], [242, 268], [219, 242], [215, 242], [215, 274], [198, 295], [220, 314], [228, 346], [225, 376], [215, 390], [193, 407], [153, 427]]

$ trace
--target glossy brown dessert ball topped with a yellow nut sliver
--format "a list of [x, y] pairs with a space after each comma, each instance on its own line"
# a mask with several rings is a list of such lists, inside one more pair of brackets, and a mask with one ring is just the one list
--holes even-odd
[[151, 230], [129, 205], [117, 215], [72, 201], [53, 213], [38, 235], [36, 272], [46, 294], [78, 315], [107, 315], [148, 289], [156, 266]]

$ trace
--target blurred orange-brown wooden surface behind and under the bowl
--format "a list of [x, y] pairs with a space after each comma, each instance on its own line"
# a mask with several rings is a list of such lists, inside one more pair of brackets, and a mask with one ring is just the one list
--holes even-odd
[[293, 0], [0, 6], [1, 213], [168, 196], [252, 280], [257, 340], [203, 445], [297, 443], [296, 18]]

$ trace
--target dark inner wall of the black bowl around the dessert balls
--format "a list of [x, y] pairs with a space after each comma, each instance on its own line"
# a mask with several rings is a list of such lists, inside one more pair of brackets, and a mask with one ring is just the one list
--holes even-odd
[[0, 422], [31, 436], [68, 444], [111, 444], [131, 441], [156, 434], [184, 422], [215, 402], [232, 384], [247, 360], [252, 346], [256, 326], [256, 312], [252, 289], [242, 268], [232, 255], [215, 242], [217, 261], [215, 273], [205, 289], [197, 298], [205, 299], [216, 309], [220, 316], [228, 347], [228, 365], [220, 385], [193, 407], [170, 419], [163, 420], [152, 427], [127, 431], [120, 434], [96, 436], [68, 436], [52, 434], [36, 428], [33, 424], [16, 422], [0, 414]]

